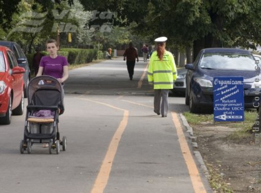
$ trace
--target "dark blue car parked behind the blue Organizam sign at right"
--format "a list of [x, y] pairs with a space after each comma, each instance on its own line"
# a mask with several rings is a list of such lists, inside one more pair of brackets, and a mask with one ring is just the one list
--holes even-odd
[[[244, 106], [257, 108], [261, 88], [258, 62], [242, 49], [206, 48], [193, 64], [186, 64], [186, 105], [191, 113], [213, 109], [213, 77], [244, 77]], [[256, 78], [260, 82], [256, 82]]]

